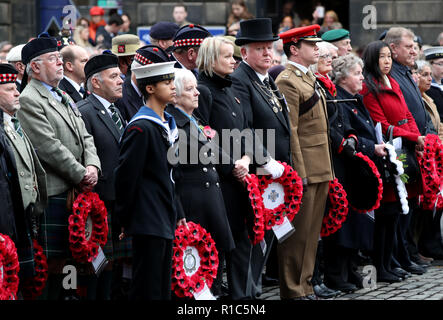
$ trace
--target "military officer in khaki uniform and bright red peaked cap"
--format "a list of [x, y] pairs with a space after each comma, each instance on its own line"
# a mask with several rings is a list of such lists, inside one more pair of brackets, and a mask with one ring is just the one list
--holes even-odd
[[293, 220], [296, 232], [277, 248], [282, 299], [316, 299], [310, 279], [333, 179], [326, 100], [308, 69], [318, 61], [319, 30], [319, 25], [311, 25], [279, 35], [289, 61], [276, 83], [288, 103], [292, 161], [304, 189], [300, 212]]

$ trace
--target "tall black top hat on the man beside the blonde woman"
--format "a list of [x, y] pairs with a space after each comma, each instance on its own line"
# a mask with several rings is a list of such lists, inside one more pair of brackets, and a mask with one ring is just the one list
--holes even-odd
[[278, 36], [272, 33], [272, 20], [258, 18], [240, 22], [240, 31], [235, 44], [242, 46], [251, 42], [277, 41]]

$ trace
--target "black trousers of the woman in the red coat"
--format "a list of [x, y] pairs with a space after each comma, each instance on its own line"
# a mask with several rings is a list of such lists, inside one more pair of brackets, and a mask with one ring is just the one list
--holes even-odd
[[375, 210], [373, 261], [377, 274], [391, 270], [400, 211], [399, 202], [382, 203]]

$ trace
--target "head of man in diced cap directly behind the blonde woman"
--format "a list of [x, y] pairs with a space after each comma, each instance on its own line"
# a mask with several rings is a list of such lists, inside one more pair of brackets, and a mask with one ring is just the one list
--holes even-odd
[[198, 50], [203, 40], [210, 36], [208, 30], [194, 24], [178, 29], [174, 36], [174, 47], [171, 55], [171, 61], [177, 61], [175, 67], [191, 70], [197, 78]]

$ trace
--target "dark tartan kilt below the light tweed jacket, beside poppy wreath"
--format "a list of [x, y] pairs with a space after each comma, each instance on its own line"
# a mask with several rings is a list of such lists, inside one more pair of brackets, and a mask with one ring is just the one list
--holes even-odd
[[49, 258], [72, 258], [69, 249], [68, 219], [66, 209], [68, 192], [48, 197], [48, 206], [40, 217], [39, 243]]

